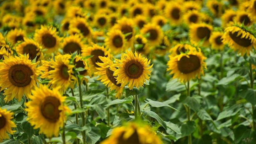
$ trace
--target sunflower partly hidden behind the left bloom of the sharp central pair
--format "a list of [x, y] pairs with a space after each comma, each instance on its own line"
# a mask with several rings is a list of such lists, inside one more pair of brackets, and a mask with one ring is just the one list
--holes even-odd
[[99, 67], [96, 63], [101, 63], [99, 56], [101, 57], [110, 57], [110, 53], [102, 46], [98, 46], [97, 44], [92, 43], [91, 47], [87, 47], [86, 49], [82, 49], [82, 56], [90, 56], [93, 55], [93, 57], [90, 58], [88, 64], [92, 66], [91, 71], [95, 72], [97, 71], [97, 67]]

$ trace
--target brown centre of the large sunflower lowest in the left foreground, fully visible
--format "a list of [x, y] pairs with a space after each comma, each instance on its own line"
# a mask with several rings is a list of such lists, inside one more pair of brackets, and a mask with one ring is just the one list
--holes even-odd
[[53, 96], [48, 96], [44, 98], [43, 103], [41, 104], [40, 110], [44, 118], [49, 122], [55, 123], [59, 120], [60, 117], [60, 101], [58, 98]]

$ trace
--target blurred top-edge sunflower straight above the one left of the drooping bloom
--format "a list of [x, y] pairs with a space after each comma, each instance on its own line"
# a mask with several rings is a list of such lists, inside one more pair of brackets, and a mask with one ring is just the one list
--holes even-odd
[[217, 0], [208, 0], [206, 3], [208, 9], [217, 17], [222, 15], [222, 5], [222, 2]]

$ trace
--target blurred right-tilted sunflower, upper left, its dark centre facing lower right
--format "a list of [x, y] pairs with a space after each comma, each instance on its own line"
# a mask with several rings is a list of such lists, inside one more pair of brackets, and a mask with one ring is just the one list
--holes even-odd
[[70, 22], [70, 27], [78, 28], [78, 30], [80, 30], [80, 32], [86, 38], [90, 38], [92, 34], [91, 27], [88, 25], [85, 18], [81, 18], [81, 17], [73, 18], [73, 20], [71, 20]]

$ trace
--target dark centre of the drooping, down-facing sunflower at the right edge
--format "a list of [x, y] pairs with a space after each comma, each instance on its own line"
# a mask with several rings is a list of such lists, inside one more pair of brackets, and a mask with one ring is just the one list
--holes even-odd
[[238, 36], [238, 32], [234, 32], [234, 33], [229, 32], [229, 36], [239, 46], [249, 47], [251, 45], [251, 40], [248, 38], [241, 38], [242, 34]]

